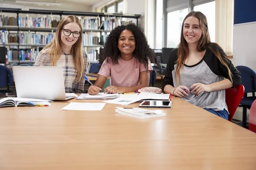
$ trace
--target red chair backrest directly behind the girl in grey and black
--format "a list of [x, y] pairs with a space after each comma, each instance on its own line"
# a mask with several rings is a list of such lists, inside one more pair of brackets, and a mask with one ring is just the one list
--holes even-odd
[[237, 85], [234, 88], [226, 89], [226, 103], [228, 112], [230, 113], [228, 116], [228, 120], [231, 121], [236, 112], [236, 109], [241, 102], [241, 99], [244, 96], [244, 86]]

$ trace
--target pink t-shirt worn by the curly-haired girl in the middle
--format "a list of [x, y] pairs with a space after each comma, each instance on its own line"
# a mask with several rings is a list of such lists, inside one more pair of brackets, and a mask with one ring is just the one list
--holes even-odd
[[[112, 62], [102, 63], [99, 75], [110, 77], [110, 85], [118, 87], [132, 87], [140, 85], [140, 72], [146, 71], [144, 64], [140, 63], [137, 58], [133, 57], [129, 61], [118, 59], [118, 64], [113, 65]], [[148, 72], [153, 71], [151, 62], [148, 59]]]

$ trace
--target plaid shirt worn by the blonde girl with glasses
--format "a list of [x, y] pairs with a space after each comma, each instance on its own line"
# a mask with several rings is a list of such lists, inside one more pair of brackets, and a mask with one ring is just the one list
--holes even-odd
[[[86, 68], [88, 65], [87, 55], [84, 53], [84, 75], [86, 73]], [[47, 54], [39, 53], [36, 57], [34, 66], [51, 66], [52, 59]], [[72, 54], [65, 54], [61, 52], [61, 57], [57, 61], [56, 66], [61, 66], [63, 69], [64, 85], [66, 93], [83, 93], [84, 92], [84, 78], [82, 78], [78, 83], [74, 82], [76, 78], [75, 65], [73, 62]]]

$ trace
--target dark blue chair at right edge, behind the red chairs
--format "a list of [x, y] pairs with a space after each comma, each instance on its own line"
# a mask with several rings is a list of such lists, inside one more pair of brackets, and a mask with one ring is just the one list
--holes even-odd
[[[246, 127], [247, 108], [250, 109], [253, 101], [256, 99], [256, 73], [246, 66], [237, 66], [237, 70], [241, 73], [242, 85], [244, 86], [244, 97], [241, 99], [239, 107], [243, 107], [243, 122], [242, 126]], [[252, 93], [253, 96], [247, 96], [247, 93]]]

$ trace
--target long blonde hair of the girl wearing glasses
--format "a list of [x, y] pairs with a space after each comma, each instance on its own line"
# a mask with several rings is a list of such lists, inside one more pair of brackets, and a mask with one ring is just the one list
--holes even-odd
[[58, 59], [61, 57], [61, 31], [62, 27], [69, 23], [77, 23], [80, 27], [80, 36], [76, 43], [72, 45], [72, 57], [74, 60], [76, 78], [75, 82], [79, 82], [84, 77], [84, 57], [82, 49], [82, 25], [78, 17], [73, 15], [67, 15], [63, 17], [58, 24], [55, 35], [52, 41], [44, 47], [41, 51], [43, 54], [48, 54], [52, 59], [52, 66], [56, 66]]

